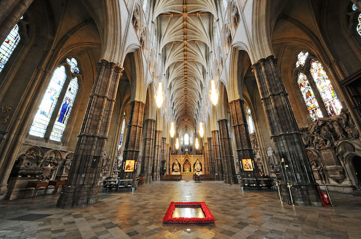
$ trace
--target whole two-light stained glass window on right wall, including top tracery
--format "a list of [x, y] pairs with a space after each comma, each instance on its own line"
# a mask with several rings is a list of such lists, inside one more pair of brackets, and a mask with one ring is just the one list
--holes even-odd
[[297, 56], [297, 84], [312, 121], [341, 113], [341, 102], [319, 60], [308, 52]]

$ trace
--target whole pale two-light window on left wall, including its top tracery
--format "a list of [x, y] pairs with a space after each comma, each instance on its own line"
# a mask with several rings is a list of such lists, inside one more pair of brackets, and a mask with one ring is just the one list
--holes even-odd
[[30, 127], [30, 135], [61, 142], [78, 93], [79, 73], [75, 58], [67, 58], [54, 71]]

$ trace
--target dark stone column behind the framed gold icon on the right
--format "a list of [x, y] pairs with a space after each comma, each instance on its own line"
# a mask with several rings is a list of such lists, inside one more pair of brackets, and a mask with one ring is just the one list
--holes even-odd
[[[258, 176], [258, 168], [254, 162], [251, 138], [249, 136], [246, 114], [244, 112], [244, 101], [241, 99], [234, 100], [229, 103], [229, 108], [231, 110], [238, 160], [241, 162], [242, 159], [250, 159], [254, 168], [253, 171], [243, 171], [243, 169], [240, 168], [241, 177], [256, 178]], [[240, 162], [237, 163], [240, 164]]]

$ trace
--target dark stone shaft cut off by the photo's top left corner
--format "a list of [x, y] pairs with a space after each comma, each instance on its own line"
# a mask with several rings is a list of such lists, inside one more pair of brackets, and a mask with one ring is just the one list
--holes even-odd
[[11, 29], [18, 23], [33, 0], [0, 1], [0, 42], [2, 43]]

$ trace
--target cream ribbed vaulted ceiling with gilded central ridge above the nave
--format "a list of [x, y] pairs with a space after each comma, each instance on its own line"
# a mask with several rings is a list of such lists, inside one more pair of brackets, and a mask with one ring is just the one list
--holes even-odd
[[162, 72], [178, 132], [194, 132], [198, 123], [216, 15], [213, 0], [157, 0], [154, 6]]

